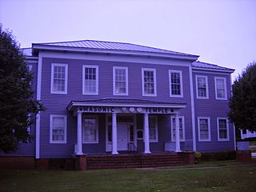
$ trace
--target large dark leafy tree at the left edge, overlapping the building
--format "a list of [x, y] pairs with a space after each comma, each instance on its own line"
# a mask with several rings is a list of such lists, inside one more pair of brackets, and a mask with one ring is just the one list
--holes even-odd
[[43, 110], [34, 99], [33, 76], [18, 42], [0, 23], [0, 150], [10, 153], [19, 142], [30, 142], [28, 127]]

